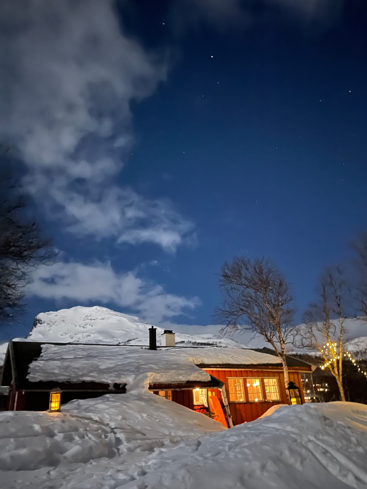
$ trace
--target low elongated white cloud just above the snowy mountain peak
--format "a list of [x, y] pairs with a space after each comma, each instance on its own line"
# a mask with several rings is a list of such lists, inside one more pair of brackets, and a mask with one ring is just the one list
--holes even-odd
[[32, 275], [27, 295], [81, 303], [112, 302], [156, 324], [200, 304], [197, 297], [168, 294], [160, 285], [139, 278], [135, 272], [116, 273], [108, 262], [92, 265], [57, 262], [52, 267], [40, 267]]

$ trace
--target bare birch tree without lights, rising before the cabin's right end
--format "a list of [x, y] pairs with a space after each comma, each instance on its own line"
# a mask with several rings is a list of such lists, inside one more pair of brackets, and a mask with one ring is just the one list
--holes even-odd
[[270, 343], [283, 365], [284, 382], [289, 382], [285, 345], [297, 333], [293, 325], [293, 297], [283, 274], [269, 260], [234, 258], [222, 267], [222, 308], [216, 309], [224, 331], [250, 331]]

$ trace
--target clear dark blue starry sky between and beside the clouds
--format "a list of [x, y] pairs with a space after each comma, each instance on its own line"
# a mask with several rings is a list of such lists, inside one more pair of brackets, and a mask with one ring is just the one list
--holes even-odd
[[[134, 142], [116, 181], [169, 199], [196, 239], [172, 252], [75, 238], [49, 221], [46, 231], [75, 261], [109, 259], [117, 273], [135, 269], [168, 293], [197, 296], [178, 323], [212, 322], [224, 261], [269, 257], [292, 284], [299, 318], [322, 268], [349, 260], [348, 242], [367, 227], [367, 5], [346, 1], [336, 18], [306, 20], [251, 2], [246, 25], [179, 29], [171, 2], [151, 3], [121, 4], [120, 23], [168, 59], [168, 75], [131, 102]], [[32, 298], [24, 321], [80, 303]], [[131, 311], [83, 302], [97, 303]]]

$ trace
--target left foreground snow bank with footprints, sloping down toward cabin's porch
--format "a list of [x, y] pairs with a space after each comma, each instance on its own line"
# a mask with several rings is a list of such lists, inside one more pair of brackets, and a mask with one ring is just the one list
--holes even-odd
[[147, 454], [224, 430], [150, 393], [75, 400], [62, 409], [0, 412], [2, 489], [115, 488], [121, 479], [132, 480], [125, 476], [128, 467]]

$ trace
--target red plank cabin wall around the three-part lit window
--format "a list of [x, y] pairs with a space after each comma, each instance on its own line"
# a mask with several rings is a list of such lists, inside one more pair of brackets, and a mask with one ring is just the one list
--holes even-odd
[[[205, 369], [208, 374], [212, 375], [213, 377], [219, 378], [219, 380], [222, 380], [222, 382], [225, 383], [225, 388], [226, 388], [226, 393], [227, 393], [227, 399], [229, 401], [229, 409], [230, 413], [232, 416], [232, 421], [234, 425], [241, 424], [243, 422], [249, 422], [256, 420], [260, 416], [262, 416], [266, 411], [277, 404], [288, 404], [288, 398], [287, 394], [285, 391], [285, 385], [284, 385], [284, 373], [283, 371], [277, 370], [210, 370], [210, 369]], [[250, 402], [250, 401], [244, 401], [244, 402], [233, 402], [229, 400], [229, 385], [228, 385], [228, 378], [233, 378], [233, 377], [242, 377], [242, 378], [271, 378], [271, 377], [276, 377], [278, 379], [278, 386], [279, 386], [279, 394], [280, 394], [280, 400], [279, 401], [268, 401], [268, 400], [262, 400], [262, 401], [257, 401], [257, 402]], [[300, 390], [301, 397], [302, 397], [302, 402], [304, 402], [304, 393], [303, 393], [303, 388], [302, 388], [302, 381], [301, 381], [301, 376], [299, 372], [293, 372], [289, 371], [289, 379], [290, 381], [293, 381]], [[247, 396], [247, 388], [246, 388], [246, 382], [244, 381], [244, 389], [245, 389], [245, 396], [246, 399], [248, 399]], [[221, 393], [219, 389], [210, 389], [210, 391], [215, 394], [219, 399], [221, 399]], [[262, 391], [264, 391], [263, 386], [262, 386]], [[265, 397], [265, 392], [263, 392], [263, 397]]]

